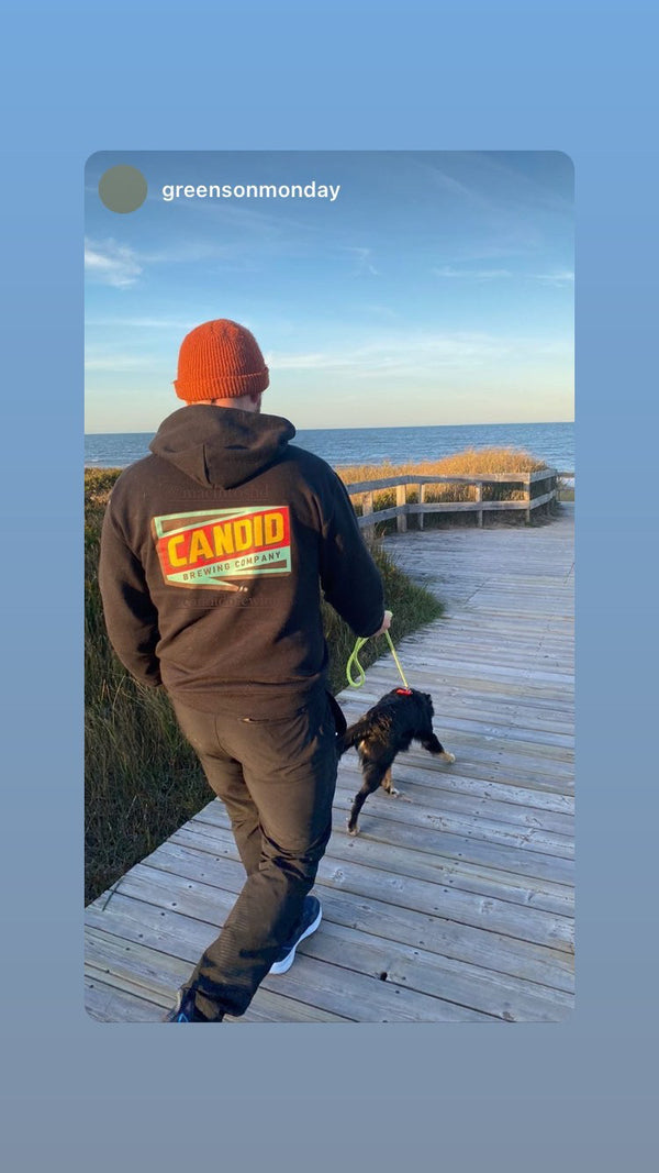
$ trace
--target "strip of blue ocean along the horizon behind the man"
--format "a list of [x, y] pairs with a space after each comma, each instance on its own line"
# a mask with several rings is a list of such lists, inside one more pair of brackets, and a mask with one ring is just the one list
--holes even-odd
[[[84, 466], [125, 468], [149, 454], [152, 432], [84, 436]], [[469, 423], [412, 428], [300, 428], [294, 443], [334, 468], [385, 461], [439, 460], [466, 448], [517, 448], [545, 460], [559, 473], [575, 472], [573, 423]]]

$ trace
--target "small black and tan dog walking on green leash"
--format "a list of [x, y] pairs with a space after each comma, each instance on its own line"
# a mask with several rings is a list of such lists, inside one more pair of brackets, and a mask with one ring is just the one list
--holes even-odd
[[379, 786], [392, 798], [399, 795], [392, 785], [392, 764], [413, 741], [420, 741], [428, 753], [444, 761], [455, 761], [433, 732], [433, 698], [416, 689], [392, 689], [339, 738], [340, 753], [356, 747], [364, 774], [364, 785], [352, 805], [348, 835], [358, 834], [359, 812]]

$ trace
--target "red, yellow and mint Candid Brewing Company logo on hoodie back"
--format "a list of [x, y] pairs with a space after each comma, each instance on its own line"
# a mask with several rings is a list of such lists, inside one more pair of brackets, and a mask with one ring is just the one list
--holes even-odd
[[152, 534], [174, 586], [245, 590], [227, 579], [291, 574], [288, 506], [164, 514], [152, 518]]

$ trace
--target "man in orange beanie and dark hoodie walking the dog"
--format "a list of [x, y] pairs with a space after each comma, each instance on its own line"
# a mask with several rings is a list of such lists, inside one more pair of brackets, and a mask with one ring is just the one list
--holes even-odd
[[244, 1013], [320, 924], [310, 891], [332, 829], [338, 707], [320, 589], [358, 636], [390, 618], [341, 481], [290, 443], [288, 420], [260, 414], [267, 386], [247, 330], [192, 330], [175, 381], [185, 406], [121, 474], [103, 522], [113, 646], [167, 689], [247, 873], [169, 1022]]

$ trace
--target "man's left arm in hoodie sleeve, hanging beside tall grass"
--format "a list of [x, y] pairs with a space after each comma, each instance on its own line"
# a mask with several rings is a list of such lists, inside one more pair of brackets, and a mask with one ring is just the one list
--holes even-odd
[[123, 666], [140, 684], [157, 687], [158, 612], [151, 602], [142, 563], [129, 548], [111, 511], [101, 530], [98, 586], [110, 643]]

